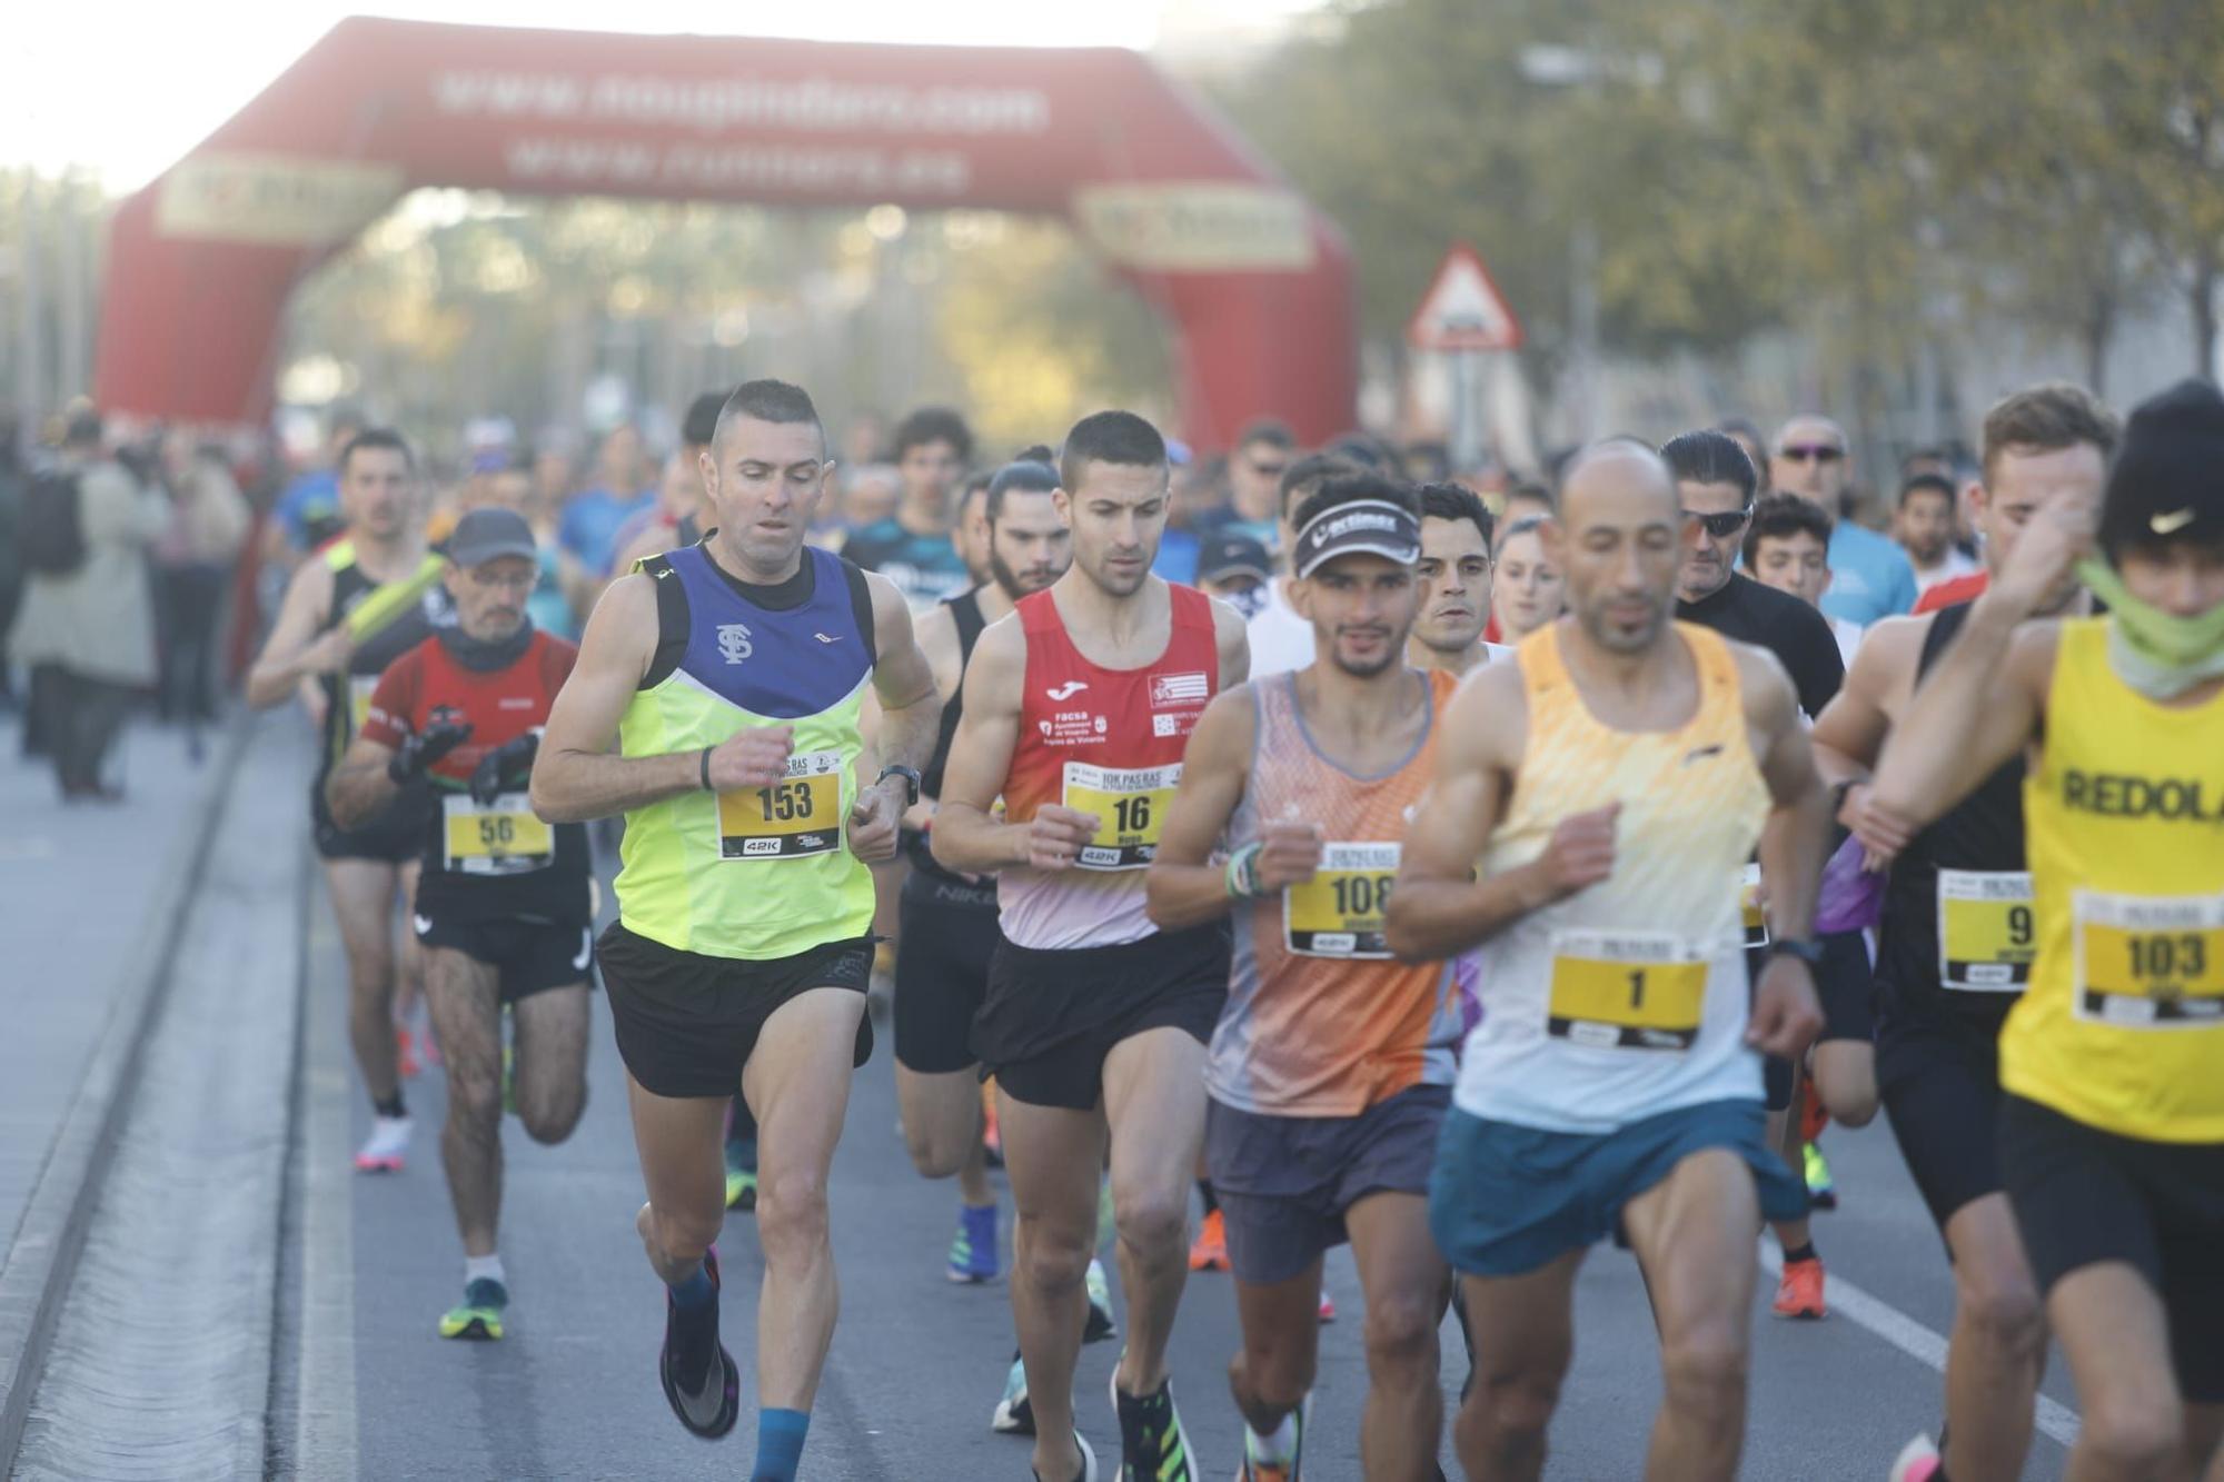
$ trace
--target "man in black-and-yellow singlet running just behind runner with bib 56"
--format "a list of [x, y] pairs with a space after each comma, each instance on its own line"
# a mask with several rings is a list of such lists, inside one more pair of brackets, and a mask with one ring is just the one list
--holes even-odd
[[418, 955], [407, 939], [394, 943], [394, 901], [416, 897], [431, 794], [423, 783], [403, 788], [358, 828], [340, 828], [325, 781], [363, 730], [378, 674], [454, 616], [436, 581], [438, 559], [425, 554], [423, 485], [409, 443], [385, 427], [358, 432], [340, 452], [338, 476], [347, 530], [294, 570], [278, 621], [247, 672], [247, 703], [269, 710], [300, 692], [325, 732], [309, 819], [347, 952], [347, 1039], [374, 1113], [356, 1168], [398, 1173], [409, 1153], [409, 1110], [394, 999], [396, 979], [418, 970]]

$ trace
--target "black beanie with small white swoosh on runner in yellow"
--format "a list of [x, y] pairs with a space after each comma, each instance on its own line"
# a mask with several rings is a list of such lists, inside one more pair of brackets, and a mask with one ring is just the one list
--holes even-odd
[[2162, 541], [2224, 545], [2224, 394], [2208, 381], [2142, 401], [2108, 470], [2102, 550]]

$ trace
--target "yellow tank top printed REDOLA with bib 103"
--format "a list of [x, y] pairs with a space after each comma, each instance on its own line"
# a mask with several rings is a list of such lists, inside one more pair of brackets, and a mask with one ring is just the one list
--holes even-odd
[[2224, 694], [2157, 705], [2062, 625], [2024, 781], [2039, 955], [1999, 1081], [2104, 1133], [2224, 1142]]

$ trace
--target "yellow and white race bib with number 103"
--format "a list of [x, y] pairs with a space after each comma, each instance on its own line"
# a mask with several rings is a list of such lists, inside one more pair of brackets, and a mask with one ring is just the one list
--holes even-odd
[[2155, 1030], [2224, 1024], [2224, 897], [2079, 890], [2071, 912], [2079, 1017]]

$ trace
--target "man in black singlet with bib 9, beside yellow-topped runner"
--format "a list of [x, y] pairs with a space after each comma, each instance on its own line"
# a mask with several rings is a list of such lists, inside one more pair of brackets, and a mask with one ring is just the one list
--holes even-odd
[[[1977, 518], [1997, 570], [2053, 498], [2099, 503], [2115, 418], [2086, 392], [2042, 385], [1984, 418]], [[2082, 610], [2064, 583], [2042, 616]], [[1884, 619], [1815, 723], [1815, 759], [1857, 823], [1868, 770], [1968, 603]], [[2024, 759], [2010, 757], [1893, 861], [1877, 941], [1877, 1081], [1899, 1153], [1946, 1237], [1955, 1324], [1946, 1346], [1946, 1460], [1962, 1482], [2017, 1478], [2046, 1360], [2039, 1288], [1999, 1186], [1999, 1028], [2031, 979], [2037, 923], [2024, 861]], [[1906, 1458], [1926, 1475], [1928, 1437]], [[1935, 1462], [1935, 1453], [1928, 1458]]]

